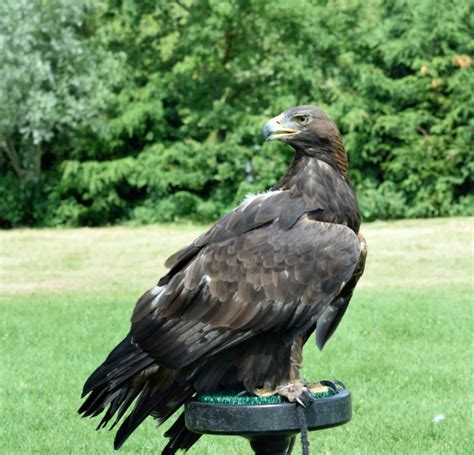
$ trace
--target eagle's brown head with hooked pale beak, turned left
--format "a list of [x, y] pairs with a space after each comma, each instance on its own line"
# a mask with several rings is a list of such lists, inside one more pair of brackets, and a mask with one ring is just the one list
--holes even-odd
[[280, 140], [306, 150], [340, 141], [341, 137], [336, 124], [316, 106], [288, 109], [265, 123], [262, 133], [266, 141]]

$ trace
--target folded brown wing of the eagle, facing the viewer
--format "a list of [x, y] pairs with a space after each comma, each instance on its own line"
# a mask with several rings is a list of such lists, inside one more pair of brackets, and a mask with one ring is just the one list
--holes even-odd
[[343, 225], [278, 221], [208, 240], [137, 303], [133, 342], [178, 369], [262, 332], [304, 333], [350, 280], [361, 246]]

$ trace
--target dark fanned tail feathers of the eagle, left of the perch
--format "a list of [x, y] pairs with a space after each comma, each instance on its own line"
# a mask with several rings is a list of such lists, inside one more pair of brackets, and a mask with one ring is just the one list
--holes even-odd
[[[191, 385], [194, 373], [190, 371], [176, 380], [174, 371], [158, 367], [128, 336], [86, 381], [84, 395], [89, 395], [79, 413], [94, 417], [105, 411], [97, 429], [113, 421], [112, 429], [133, 406], [117, 431], [114, 447], [118, 449], [149, 415], [161, 424], [176, 412], [194, 393]], [[183, 433], [178, 441], [185, 444], [190, 438]]]

